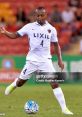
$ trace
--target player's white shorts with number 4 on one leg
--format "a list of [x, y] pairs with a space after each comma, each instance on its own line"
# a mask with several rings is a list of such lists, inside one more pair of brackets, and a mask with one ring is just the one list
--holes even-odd
[[27, 80], [31, 77], [31, 74], [36, 71], [55, 72], [51, 59], [47, 59], [46, 62], [27, 61], [20, 73], [19, 78]]

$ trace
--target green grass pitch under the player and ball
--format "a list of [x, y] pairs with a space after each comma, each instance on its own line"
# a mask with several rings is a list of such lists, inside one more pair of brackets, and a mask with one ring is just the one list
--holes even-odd
[[[0, 84], [0, 117], [82, 117], [82, 86], [80, 84], [62, 84], [68, 108], [74, 115], [64, 115], [53, 95], [50, 85], [27, 85], [17, 88], [9, 96], [4, 95], [6, 85]], [[24, 112], [24, 104], [29, 99], [39, 104], [37, 114]], [[5, 113], [5, 115], [1, 115]]]

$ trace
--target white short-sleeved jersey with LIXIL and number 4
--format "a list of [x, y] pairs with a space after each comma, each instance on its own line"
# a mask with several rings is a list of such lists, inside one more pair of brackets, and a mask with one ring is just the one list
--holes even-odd
[[27, 35], [29, 39], [29, 52], [26, 60], [45, 62], [51, 58], [50, 42], [57, 42], [57, 31], [47, 21], [44, 25], [33, 22], [17, 31], [20, 36]]

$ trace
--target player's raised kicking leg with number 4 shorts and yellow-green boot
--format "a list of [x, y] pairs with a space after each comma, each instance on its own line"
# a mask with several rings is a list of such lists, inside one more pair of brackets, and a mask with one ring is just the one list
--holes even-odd
[[15, 81], [6, 88], [5, 95], [9, 95], [17, 87], [21, 87], [36, 70], [36, 65], [32, 64], [30, 61], [26, 63], [23, 70], [21, 71], [19, 78], [15, 79]]

